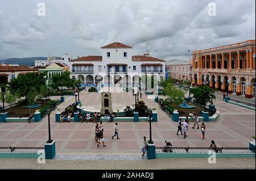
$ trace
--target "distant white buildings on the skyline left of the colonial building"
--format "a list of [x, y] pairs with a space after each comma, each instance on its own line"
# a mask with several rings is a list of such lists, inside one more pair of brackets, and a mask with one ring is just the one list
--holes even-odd
[[61, 63], [64, 61], [71, 61], [72, 57], [68, 55], [68, 53], [63, 53], [60, 59], [56, 57], [47, 57], [47, 60], [35, 60], [35, 66], [48, 66], [53, 63]]

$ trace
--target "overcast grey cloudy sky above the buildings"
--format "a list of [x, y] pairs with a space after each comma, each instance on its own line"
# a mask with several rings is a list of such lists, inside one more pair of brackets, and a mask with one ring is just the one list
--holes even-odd
[[255, 39], [255, 0], [0, 1], [0, 60], [101, 55], [115, 35], [134, 55], [148, 46], [151, 56], [188, 59], [188, 50]]

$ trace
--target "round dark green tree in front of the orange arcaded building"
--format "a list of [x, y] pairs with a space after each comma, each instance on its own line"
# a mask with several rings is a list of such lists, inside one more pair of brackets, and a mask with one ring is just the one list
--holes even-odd
[[212, 94], [212, 89], [208, 86], [199, 86], [191, 89], [192, 98], [196, 103], [204, 105], [204, 90], [206, 91], [205, 102], [206, 104], [210, 102], [211, 99], [215, 99], [214, 90]]

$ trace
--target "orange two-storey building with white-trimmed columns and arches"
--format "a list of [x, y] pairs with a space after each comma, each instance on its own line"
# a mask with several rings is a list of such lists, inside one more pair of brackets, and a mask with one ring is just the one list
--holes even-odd
[[195, 50], [193, 85], [255, 98], [255, 40]]

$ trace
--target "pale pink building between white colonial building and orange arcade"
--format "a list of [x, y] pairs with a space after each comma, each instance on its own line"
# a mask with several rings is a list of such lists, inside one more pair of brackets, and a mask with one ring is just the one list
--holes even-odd
[[166, 63], [169, 77], [179, 81], [191, 81], [192, 82], [192, 60], [171, 60]]

